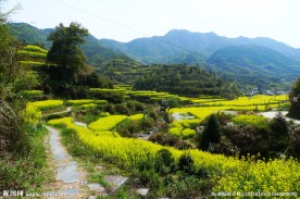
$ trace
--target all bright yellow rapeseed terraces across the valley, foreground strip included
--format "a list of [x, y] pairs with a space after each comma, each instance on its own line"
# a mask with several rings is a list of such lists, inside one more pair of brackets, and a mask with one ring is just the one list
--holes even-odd
[[[103, 91], [103, 90], [101, 90]], [[107, 91], [107, 90], [105, 90]], [[110, 90], [111, 91], [111, 90]], [[158, 94], [155, 91], [128, 91], [128, 95], [136, 96], [163, 96], [167, 94]], [[170, 126], [170, 134], [180, 136], [183, 139], [195, 137], [197, 126], [211, 113], [225, 110], [264, 110], [265, 102], [270, 107], [278, 107], [285, 103], [286, 96], [257, 96], [252, 98], [239, 98], [236, 100], [215, 99], [216, 101], [202, 100], [202, 107], [184, 107], [170, 109], [170, 113], [188, 113], [195, 116], [191, 120], [174, 121]], [[36, 117], [41, 116], [40, 110], [54, 109], [63, 104], [84, 105], [107, 103], [104, 100], [68, 100], [65, 103], [62, 100], [47, 100], [30, 102], [27, 109], [29, 112], [36, 112]], [[142, 120], [143, 114], [135, 115], [104, 115], [90, 123], [88, 127], [82, 127], [74, 124], [72, 117], [51, 120], [49, 125], [59, 128], [73, 130], [80, 142], [87, 146], [95, 154], [101, 159], [114, 163], [125, 170], [139, 167], [143, 164], [154, 163], [160, 150], [166, 149], [172, 153], [175, 162], [178, 163], [182, 156], [188, 153], [191, 156], [196, 169], [205, 167], [214, 182], [213, 191], [298, 191], [300, 189], [300, 165], [297, 160], [271, 160], [253, 161], [249, 159], [238, 159], [225, 157], [222, 154], [212, 154], [198, 149], [178, 150], [172, 147], [163, 147], [147, 140], [136, 138], [121, 137], [116, 127], [124, 121]], [[242, 125], [243, 123], [258, 126], [264, 124], [265, 119], [255, 115], [238, 115], [234, 123]]]

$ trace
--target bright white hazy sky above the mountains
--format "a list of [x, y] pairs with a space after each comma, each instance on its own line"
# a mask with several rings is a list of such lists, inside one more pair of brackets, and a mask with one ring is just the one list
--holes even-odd
[[101, 39], [130, 41], [171, 29], [270, 37], [300, 48], [299, 0], [7, 0], [12, 22], [52, 28], [78, 22]]

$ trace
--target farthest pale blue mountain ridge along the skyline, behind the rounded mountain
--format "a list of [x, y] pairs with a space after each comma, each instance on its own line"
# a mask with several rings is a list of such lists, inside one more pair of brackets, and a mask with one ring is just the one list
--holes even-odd
[[270, 38], [227, 38], [214, 33], [191, 33], [185, 29], [173, 29], [164, 36], [139, 38], [130, 42], [118, 42], [110, 39], [101, 39], [100, 41], [107, 47], [128, 54], [143, 63], [171, 63], [190, 53], [205, 60], [220, 49], [241, 45], [266, 47], [286, 57], [300, 60], [300, 49], [295, 49]]

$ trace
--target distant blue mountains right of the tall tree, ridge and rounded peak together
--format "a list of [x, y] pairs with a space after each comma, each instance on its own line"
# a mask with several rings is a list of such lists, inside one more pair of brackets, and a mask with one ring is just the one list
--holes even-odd
[[[300, 75], [300, 49], [276, 40], [227, 38], [214, 33], [174, 29], [164, 36], [139, 38], [130, 42], [101, 39], [102, 43], [140, 62], [178, 63], [204, 66], [239, 83], [240, 87], [289, 89]], [[299, 60], [299, 61], [298, 61]]]

